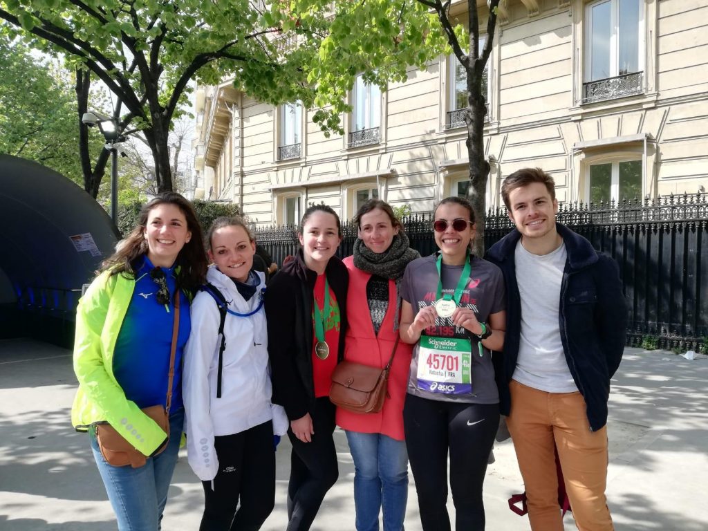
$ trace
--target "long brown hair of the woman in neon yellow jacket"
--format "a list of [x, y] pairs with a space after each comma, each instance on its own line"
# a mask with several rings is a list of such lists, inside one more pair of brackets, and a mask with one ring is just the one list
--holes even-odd
[[143, 234], [147, 227], [150, 211], [158, 205], [175, 205], [187, 220], [187, 229], [192, 233], [190, 240], [184, 244], [177, 255], [175, 265], [178, 287], [186, 290], [196, 290], [204, 283], [207, 273], [207, 256], [204, 251], [202, 228], [192, 204], [175, 192], [165, 192], [156, 195], [140, 209], [138, 224], [127, 238], [118, 242], [115, 253], [101, 263], [101, 271], [110, 270], [111, 275], [122, 273], [127, 278], [135, 278], [135, 270], [141, 258], [147, 254], [147, 241]]

